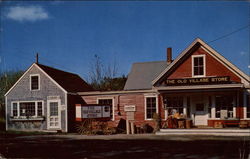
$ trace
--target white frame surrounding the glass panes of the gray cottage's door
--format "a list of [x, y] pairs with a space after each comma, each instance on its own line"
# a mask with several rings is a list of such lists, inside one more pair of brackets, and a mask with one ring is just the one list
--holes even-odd
[[[50, 127], [50, 103], [57, 102], [58, 103], [58, 127]], [[61, 128], [61, 100], [60, 99], [51, 99], [47, 100], [47, 129], [62, 129]]]

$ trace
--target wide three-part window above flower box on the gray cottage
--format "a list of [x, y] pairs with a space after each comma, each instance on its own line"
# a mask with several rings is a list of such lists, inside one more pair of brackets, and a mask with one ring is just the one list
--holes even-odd
[[43, 102], [13, 102], [13, 117], [41, 117], [43, 116]]

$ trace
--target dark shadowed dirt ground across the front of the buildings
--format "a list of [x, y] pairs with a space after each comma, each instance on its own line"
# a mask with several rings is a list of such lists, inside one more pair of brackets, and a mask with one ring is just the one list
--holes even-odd
[[5, 158], [248, 159], [249, 149], [249, 137], [0, 134]]

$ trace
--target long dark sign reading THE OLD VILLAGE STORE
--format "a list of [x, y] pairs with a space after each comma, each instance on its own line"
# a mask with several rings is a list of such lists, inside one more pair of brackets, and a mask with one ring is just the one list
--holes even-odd
[[167, 79], [164, 81], [166, 85], [202, 85], [202, 84], [226, 84], [230, 83], [229, 76], [206, 77], [206, 78], [183, 78], [183, 79]]

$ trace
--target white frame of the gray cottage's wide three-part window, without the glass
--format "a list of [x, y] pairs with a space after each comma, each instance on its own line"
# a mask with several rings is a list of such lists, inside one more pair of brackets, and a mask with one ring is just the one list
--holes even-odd
[[[42, 116], [38, 116], [38, 103], [42, 103]], [[13, 116], [13, 104], [17, 103], [17, 116]], [[11, 102], [11, 117], [13, 118], [24, 118], [26, 119], [28, 116], [21, 116], [20, 115], [20, 103], [35, 103], [35, 115], [29, 116], [31, 118], [40, 118], [44, 116], [44, 101], [42, 100], [36, 100], [36, 101], [12, 101]]]

